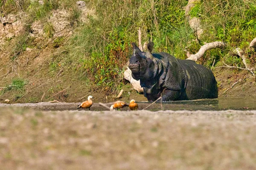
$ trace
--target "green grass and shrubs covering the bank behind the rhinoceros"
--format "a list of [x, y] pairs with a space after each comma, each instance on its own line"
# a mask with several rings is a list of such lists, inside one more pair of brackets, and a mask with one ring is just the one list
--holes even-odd
[[[191, 17], [198, 17], [204, 30], [200, 42], [189, 27], [184, 7], [187, 0], [86, 0], [87, 8], [95, 9], [95, 16], [88, 16], [86, 23], [79, 22], [80, 9], [76, 0], [44, 0], [43, 4], [29, 0], [1, 1], [1, 9], [7, 14], [11, 9], [28, 14], [28, 25], [35, 20], [46, 21], [52, 10], [69, 12], [73, 35], [68, 39], [52, 40], [58, 54], [52, 57], [50, 71], [57, 71], [60, 64], [72, 73], [86, 76], [91, 85], [111, 92], [124, 84], [122, 72], [131, 55], [131, 42], [138, 41], [138, 28], [142, 31], [142, 42], [151, 39], [154, 51], [165, 51], [177, 58], [185, 59], [186, 52], [195, 54], [204, 42], [227, 42], [225, 49], [207, 51], [198, 62], [210, 68], [222, 61], [229, 65], [243, 66], [241, 59], [230, 54], [234, 48], [245, 49], [256, 37], [256, 3], [254, 0], [206, 0], [195, 4]], [[27, 32], [29, 31], [29, 26]], [[46, 22], [44, 32], [48, 38], [55, 34], [51, 23]], [[12, 40], [10, 40], [12, 41]], [[28, 45], [27, 34], [20, 37], [13, 48], [13, 59]], [[248, 63], [255, 64], [254, 51], [246, 51]]]

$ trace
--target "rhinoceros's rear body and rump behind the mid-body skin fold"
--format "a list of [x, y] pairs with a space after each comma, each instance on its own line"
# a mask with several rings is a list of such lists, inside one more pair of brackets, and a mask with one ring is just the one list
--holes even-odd
[[185, 89], [189, 100], [217, 98], [217, 82], [211, 70], [192, 60], [177, 59], [186, 74]]

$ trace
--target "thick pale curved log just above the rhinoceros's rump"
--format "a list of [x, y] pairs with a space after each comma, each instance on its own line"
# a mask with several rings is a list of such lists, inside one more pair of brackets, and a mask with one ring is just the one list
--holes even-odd
[[204, 53], [207, 50], [210, 50], [210, 49], [213, 49], [213, 48], [223, 48], [225, 46], [226, 46], [226, 43], [221, 42], [221, 41], [209, 42], [209, 43], [201, 46], [201, 48], [199, 49], [198, 53], [191, 54], [190, 57], [187, 58], [187, 59], [191, 59], [191, 60], [197, 61], [198, 59], [203, 57]]

